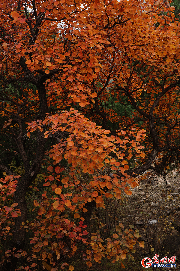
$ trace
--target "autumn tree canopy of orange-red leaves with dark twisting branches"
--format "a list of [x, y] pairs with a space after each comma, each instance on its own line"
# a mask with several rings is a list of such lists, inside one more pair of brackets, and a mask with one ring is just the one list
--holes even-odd
[[[58, 263], [65, 268], [63, 255], [72, 256], [78, 240], [94, 251], [86, 251], [88, 266], [92, 254], [97, 262], [106, 254], [124, 259], [129, 251], [120, 245], [133, 251], [137, 232], [133, 236], [129, 229], [123, 235], [120, 223], [116, 231], [122, 240], [106, 240], [106, 248], [97, 233], [89, 241], [88, 232], [81, 230], [95, 205], [105, 208], [104, 198], [130, 195], [128, 185], [138, 185], [140, 173], [161, 172], [179, 160], [179, 24], [174, 8], [168, 1], [0, 3], [1, 140], [6, 144], [0, 169], [15, 180], [21, 175], [12, 203], [21, 216], [12, 224], [2, 270], [15, 270], [25, 255], [28, 230], [34, 233], [31, 260], [36, 253], [46, 260], [51, 243], [57, 256], [48, 256], [52, 271]], [[123, 104], [129, 104], [128, 114]], [[22, 174], [13, 172], [9, 162], [21, 166]], [[34, 200], [38, 216], [29, 223], [26, 197], [29, 187], [39, 192], [39, 173], [47, 191], [41, 201]], [[64, 241], [57, 243], [53, 236]]]

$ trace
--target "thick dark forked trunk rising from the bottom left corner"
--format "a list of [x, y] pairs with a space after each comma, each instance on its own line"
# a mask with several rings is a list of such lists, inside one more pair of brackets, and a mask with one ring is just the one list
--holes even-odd
[[[37, 85], [38, 87], [38, 94], [39, 94], [39, 100], [40, 100], [40, 107], [41, 107], [41, 120], [44, 120], [47, 113], [47, 100], [46, 100], [46, 89], [44, 86], [44, 80], [39, 80], [39, 83]], [[20, 123], [19, 123], [20, 126]], [[20, 249], [23, 250], [26, 240], [26, 229], [22, 226], [22, 222], [26, 225], [27, 220], [27, 205], [26, 205], [26, 191], [31, 185], [31, 183], [34, 181], [36, 176], [38, 175], [39, 171], [41, 170], [41, 164], [44, 157], [44, 145], [47, 139], [44, 138], [44, 132], [37, 131], [37, 149], [36, 149], [36, 157], [33, 161], [31, 167], [29, 165], [29, 159], [25, 152], [23, 141], [21, 137], [18, 135], [16, 142], [18, 143], [19, 152], [21, 154], [25, 174], [21, 179], [18, 179], [18, 183], [16, 186], [16, 192], [14, 193], [13, 197], [13, 203], [17, 203], [18, 209], [21, 211], [21, 216], [18, 216], [14, 219], [14, 233], [13, 233], [13, 239], [11, 241], [11, 244], [9, 246], [9, 249], [14, 253], [10, 257], [5, 257], [4, 264], [2, 266], [2, 271], [15, 271], [16, 265], [18, 262], [18, 258], [14, 257], [16, 252]]]

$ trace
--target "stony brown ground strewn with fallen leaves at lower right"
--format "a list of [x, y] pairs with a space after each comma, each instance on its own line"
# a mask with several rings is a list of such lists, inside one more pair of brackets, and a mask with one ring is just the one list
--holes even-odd
[[180, 176], [173, 172], [165, 178], [155, 175], [153, 180], [132, 189], [120, 222], [137, 228], [142, 235], [139, 241], [145, 242], [143, 249], [136, 247], [134, 257], [176, 256], [176, 270], [180, 270]]

